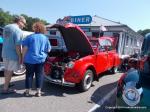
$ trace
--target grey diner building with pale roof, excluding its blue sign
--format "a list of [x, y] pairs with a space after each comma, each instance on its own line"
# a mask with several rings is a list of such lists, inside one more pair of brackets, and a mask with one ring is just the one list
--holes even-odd
[[99, 36], [101, 32], [101, 26], [106, 28], [104, 36], [114, 36], [118, 38], [117, 52], [119, 55], [132, 55], [134, 53], [141, 52], [141, 46], [144, 37], [127, 25], [120, 22], [114, 22], [99, 16], [93, 16], [90, 24], [78, 24], [88, 36]]

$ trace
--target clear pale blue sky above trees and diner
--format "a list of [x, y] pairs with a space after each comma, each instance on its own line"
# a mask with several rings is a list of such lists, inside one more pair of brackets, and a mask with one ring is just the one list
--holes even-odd
[[64, 16], [97, 15], [135, 31], [150, 29], [150, 0], [0, 0], [0, 8], [52, 24]]

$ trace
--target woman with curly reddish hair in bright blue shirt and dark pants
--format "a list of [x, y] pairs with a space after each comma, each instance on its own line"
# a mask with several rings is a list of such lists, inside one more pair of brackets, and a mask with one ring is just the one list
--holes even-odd
[[23, 61], [26, 67], [25, 79], [25, 96], [29, 96], [32, 88], [33, 76], [35, 74], [35, 82], [37, 92], [35, 96], [41, 96], [41, 88], [43, 83], [44, 62], [47, 53], [51, 50], [48, 38], [44, 35], [46, 29], [42, 22], [36, 22], [32, 26], [34, 34], [27, 36], [23, 42]]

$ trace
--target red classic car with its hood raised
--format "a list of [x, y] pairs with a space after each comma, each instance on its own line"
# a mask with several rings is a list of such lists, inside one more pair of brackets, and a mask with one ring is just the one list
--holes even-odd
[[[55, 24], [49, 29], [57, 29], [65, 43], [65, 49], [52, 49], [46, 60], [45, 78], [51, 83], [64, 86], [78, 85], [86, 91], [100, 73], [113, 73], [120, 59], [113, 46], [114, 38], [90, 38], [74, 24]], [[50, 38], [51, 45], [57, 46], [60, 39]], [[56, 48], [56, 47], [52, 47]]]

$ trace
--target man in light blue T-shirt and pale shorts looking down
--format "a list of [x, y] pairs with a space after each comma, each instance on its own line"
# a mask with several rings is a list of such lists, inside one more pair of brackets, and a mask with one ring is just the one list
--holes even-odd
[[6, 25], [3, 31], [3, 48], [2, 57], [5, 63], [5, 83], [2, 93], [14, 93], [15, 90], [9, 88], [9, 83], [13, 75], [13, 71], [18, 69], [21, 59], [21, 38], [23, 36], [22, 29], [25, 27], [26, 20], [23, 16], [16, 16], [13, 24]]

